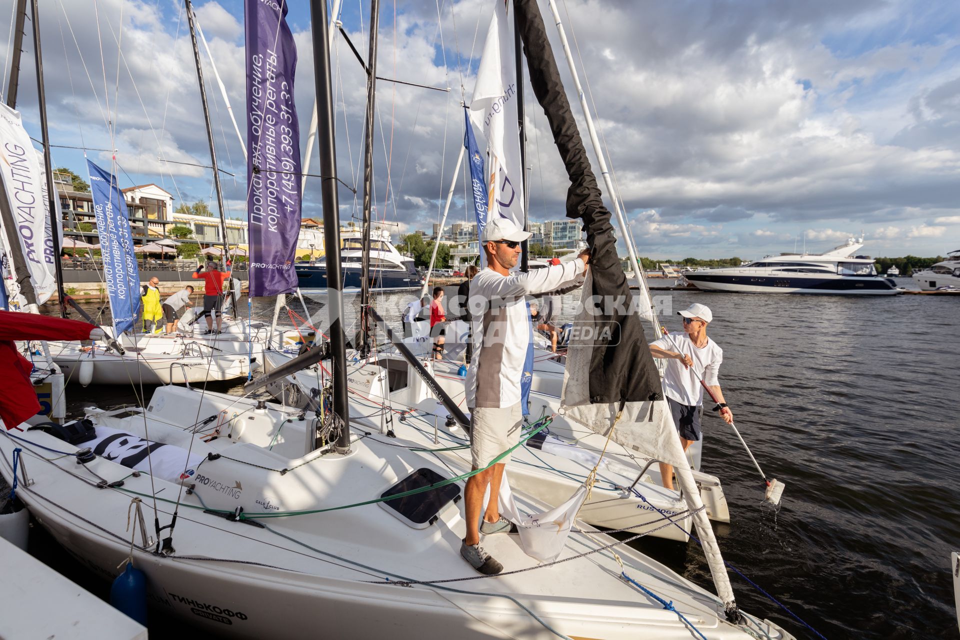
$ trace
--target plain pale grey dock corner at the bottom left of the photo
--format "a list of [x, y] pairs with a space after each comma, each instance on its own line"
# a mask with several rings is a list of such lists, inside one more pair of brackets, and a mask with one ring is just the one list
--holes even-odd
[[147, 640], [147, 628], [0, 537], [0, 638]]

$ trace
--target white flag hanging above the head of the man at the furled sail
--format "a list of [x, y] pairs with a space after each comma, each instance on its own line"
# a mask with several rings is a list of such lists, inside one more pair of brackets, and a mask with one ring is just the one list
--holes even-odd
[[491, 212], [523, 227], [523, 167], [517, 126], [514, 37], [507, 3], [495, 3], [477, 83], [473, 87], [470, 120], [487, 138], [487, 201]]

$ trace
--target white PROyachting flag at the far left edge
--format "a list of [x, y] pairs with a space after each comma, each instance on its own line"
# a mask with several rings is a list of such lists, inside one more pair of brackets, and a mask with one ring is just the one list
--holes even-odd
[[[37, 304], [46, 302], [57, 291], [56, 261], [60, 259], [54, 254], [50, 235], [45, 176], [43, 154], [34, 149], [20, 113], [0, 105], [0, 177], [14, 223], [14, 228], [8, 229], [0, 221], [0, 231], [5, 244], [13, 237], [19, 241]], [[62, 230], [58, 229], [58, 233]]]

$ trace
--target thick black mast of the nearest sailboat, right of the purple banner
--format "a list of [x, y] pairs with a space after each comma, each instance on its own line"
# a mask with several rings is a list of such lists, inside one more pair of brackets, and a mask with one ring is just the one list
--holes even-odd
[[310, 0], [313, 36], [313, 67], [317, 83], [320, 130], [320, 173], [324, 203], [324, 249], [326, 251], [327, 311], [330, 318], [330, 356], [333, 368], [333, 414], [342, 425], [335, 448], [350, 450], [347, 401], [347, 339], [344, 335], [344, 274], [340, 264], [340, 203], [337, 198], [337, 148], [333, 138], [333, 82], [330, 78], [330, 48], [326, 46], [326, 0]]

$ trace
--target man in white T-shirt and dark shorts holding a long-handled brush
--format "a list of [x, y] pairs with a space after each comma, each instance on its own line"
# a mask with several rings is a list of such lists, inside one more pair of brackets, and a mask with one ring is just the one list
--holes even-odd
[[[717, 399], [713, 410], [720, 412], [720, 417], [728, 424], [733, 421], [733, 412], [724, 400], [717, 377], [723, 362], [723, 349], [707, 337], [707, 325], [713, 320], [713, 313], [707, 305], [697, 302], [677, 314], [684, 319], [684, 330], [668, 333], [651, 343], [650, 353], [654, 358], [670, 361], [663, 375], [663, 393], [686, 451], [703, 435], [700, 421], [704, 390], [701, 380]], [[660, 475], [663, 486], [672, 489], [673, 467], [660, 462]]]

